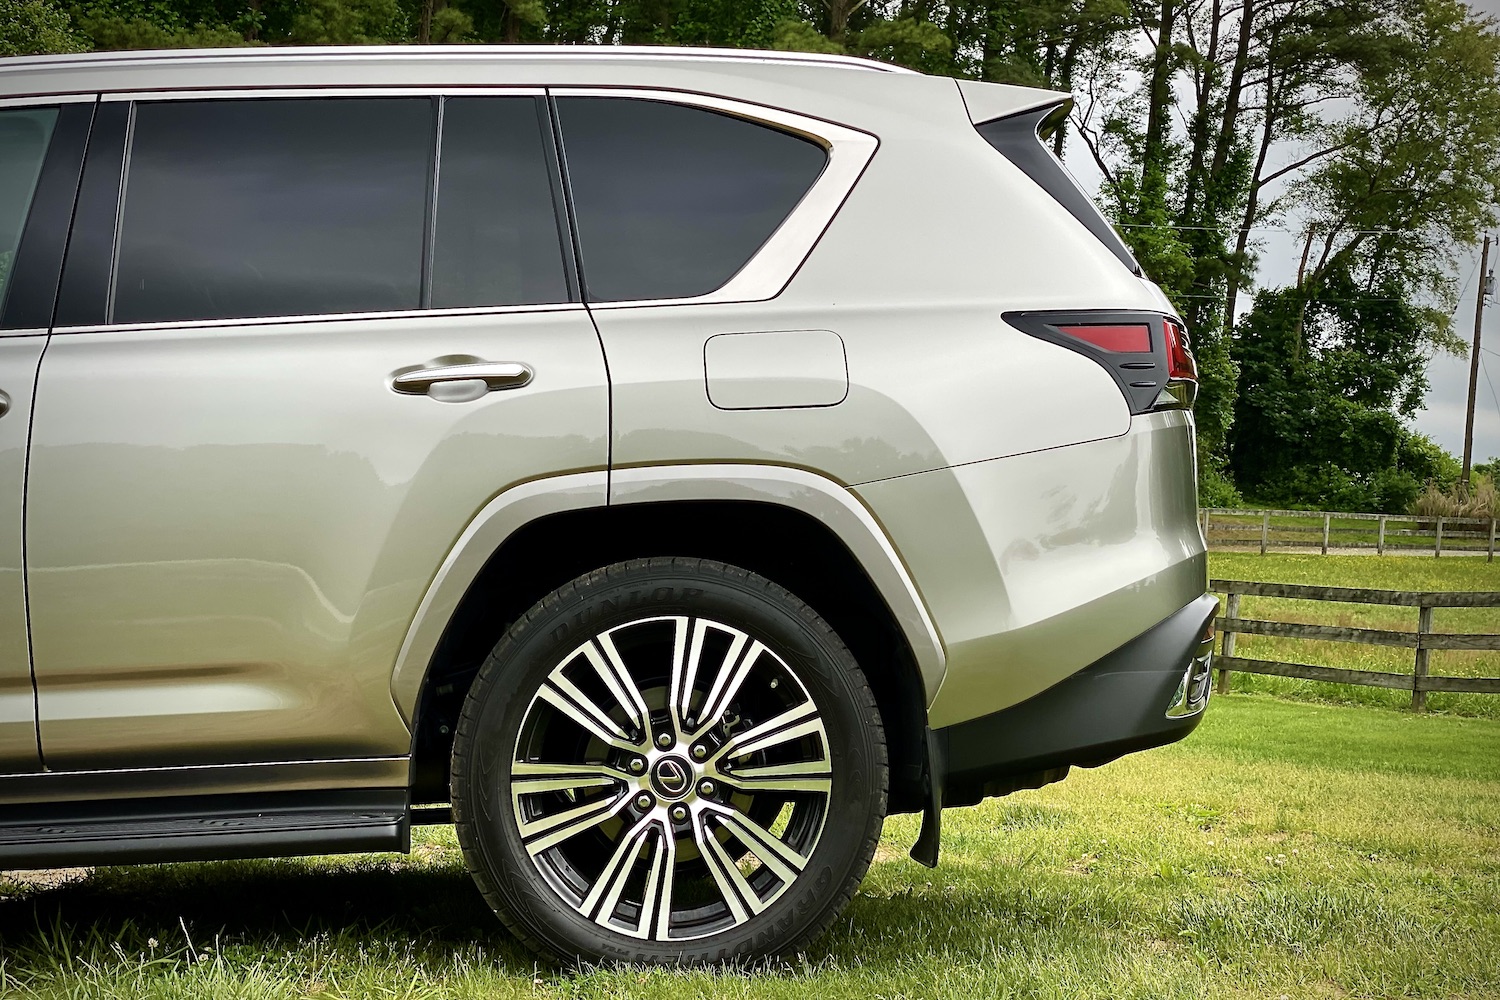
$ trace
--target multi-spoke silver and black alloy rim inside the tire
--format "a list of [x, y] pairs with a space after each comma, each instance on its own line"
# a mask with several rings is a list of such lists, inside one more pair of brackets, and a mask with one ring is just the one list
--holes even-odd
[[586, 919], [652, 942], [752, 919], [807, 868], [828, 733], [788, 660], [668, 615], [578, 645], [526, 708], [510, 802], [526, 855]]

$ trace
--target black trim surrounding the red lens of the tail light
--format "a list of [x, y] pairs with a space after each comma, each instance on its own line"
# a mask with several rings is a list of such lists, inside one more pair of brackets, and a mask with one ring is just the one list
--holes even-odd
[[[1168, 316], [1160, 312], [1119, 312], [1106, 309], [1082, 309], [1071, 312], [1006, 312], [1002, 319], [1022, 333], [1068, 348], [1100, 363], [1125, 394], [1131, 414], [1149, 414], [1154, 409], [1185, 409], [1192, 406], [1197, 385], [1185, 379], [1173, 379], [1167, 358]], [[1184, 328], [1182, 321], [1172, 319]], [[1101, 346], [1064, 333], [1060, 327], [1130, 327], [1150, 328], [1149, 351], [1106, 351]]]

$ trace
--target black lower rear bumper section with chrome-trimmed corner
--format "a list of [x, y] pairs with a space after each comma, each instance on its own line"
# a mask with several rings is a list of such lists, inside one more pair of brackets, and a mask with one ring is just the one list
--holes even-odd
[[1020, 705], [933, 730], [942, 805], [1035, 789], [1068, 768], [1182, 739], [1208, 706], [1218, 598], [1204, 594]]

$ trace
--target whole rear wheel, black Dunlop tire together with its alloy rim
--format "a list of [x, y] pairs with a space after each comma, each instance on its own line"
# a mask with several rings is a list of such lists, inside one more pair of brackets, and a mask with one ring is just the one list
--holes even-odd
[[464, 703], [452, 799], [480, 892], [534, 951], [754, 960], [818, 937], [864, 879], [885, 733], [812, 607], [722, 562], [636, 559], [500, 640]]

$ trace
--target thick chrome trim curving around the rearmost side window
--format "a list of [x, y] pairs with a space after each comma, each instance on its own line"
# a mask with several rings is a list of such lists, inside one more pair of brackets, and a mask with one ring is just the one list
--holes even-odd
[[[824, 231], [838, 214], [849, 192], [854, 190], [864, 168], [870, 165], [880, 141], [868, 132], [834, 124], [822, 118], [768, 108], [765, 105], [716, 97], [666, 88], [634, 87], [548, 87], [552, 97], [618, 97], [633, 100], [656, 100], [692, 108], [720, 111], [736, 118], [756, 121], [784, 132], [792, 132], [818, 142], [828, 153], [828, 163], [796, 202], [792, 213], [760, 244], [760, 249], [735, 271], [734, 277], [704, 295], [684, 298], [627, 298], [621, 301], [590, 303], [590, 309], [639, 309], [642, 306], [696, 306], [710, 303], [744, 303], [776, 298], [792, 280], [796, 270], [813, 252]], [[567, 151], [567, 129], [562, 129], [562, 148]], [[574, 226], [576, 228], [576, 226]], [[586, 256], [586, 252], [585, 252]], [[586, 264], [585, 264], [586, 267]]]

